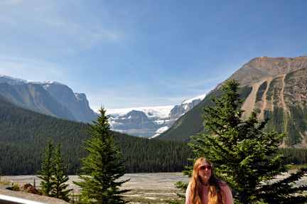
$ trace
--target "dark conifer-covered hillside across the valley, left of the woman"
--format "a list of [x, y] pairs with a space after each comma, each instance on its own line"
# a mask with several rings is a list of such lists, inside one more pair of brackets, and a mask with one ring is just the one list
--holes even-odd
[[[36, 174], [47, 139], [61, 141], [68, 174], [80, 173], [79, 158], [87, 156], [82, 141], [90, 139], [87, 124], [58, 119], [17, 107], [0, 95], [0, 170], [2, 175]], [[144, 139], [114, 132], [123, 146], [127, 173], [183, 171], [195, 157], [184, 141]]]

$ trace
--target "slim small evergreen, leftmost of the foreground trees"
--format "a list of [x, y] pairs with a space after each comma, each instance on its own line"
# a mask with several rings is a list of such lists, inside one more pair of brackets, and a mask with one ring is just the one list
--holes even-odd
[[41, 191], [44, 195], [50, 196], [51, 190], [53, 190], [53, 141], [51, 139], [47, 140], [48, 146], [43, 149], [45, 154], [43, 154], [43, 163], [41, 163], [41, 171], [38, 171], [41, 178]]

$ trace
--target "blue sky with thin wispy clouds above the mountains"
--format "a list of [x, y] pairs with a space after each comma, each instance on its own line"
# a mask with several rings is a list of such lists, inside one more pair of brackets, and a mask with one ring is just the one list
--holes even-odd
[[180, 104], [252, 58], [306, 55], [307, 1], [0, 1], [0, 75], [92, 109]]

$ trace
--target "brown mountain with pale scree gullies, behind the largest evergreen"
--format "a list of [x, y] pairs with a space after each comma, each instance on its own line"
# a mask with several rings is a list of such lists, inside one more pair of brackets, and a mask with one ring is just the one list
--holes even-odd
[[[266, 131], [275, 129], [279, 133], [289, 133], [281, 146], [307, 147], [306, 68], [307, 56], [254, 58], [227, 79], [241, 82], [242, 96], [246, 98], [242, 108], [246, 110], [246, 116], [253, 109], [257, 109], [260, 119], [270, 118]], [[217, 85], [200, 105], [212, 105], [208, 97], [219, 97], [221, 84]], [[186, 127], [183, 128], [183, 124], [190, 124], [191, 118], [200, 120], [198, 115], [203, 114], [202, 110], [198, 105], [193, 109], [178, 119], [173, 127], [159, 138], [189, 140], [191, 135], [201, 132], [202, 122], [193, 122], [194, 126], [190, 126], [189, 131], [186, 131]]]

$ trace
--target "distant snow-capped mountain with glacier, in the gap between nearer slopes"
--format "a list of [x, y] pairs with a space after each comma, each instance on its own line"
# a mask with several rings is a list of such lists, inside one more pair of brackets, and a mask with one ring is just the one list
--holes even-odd
[[109, 124], [115, 131], [154, 138], [204, 98], [205, 95], [200, 95], [173, 106], [107, 109]]

